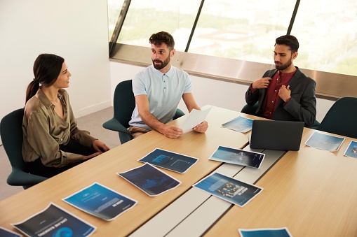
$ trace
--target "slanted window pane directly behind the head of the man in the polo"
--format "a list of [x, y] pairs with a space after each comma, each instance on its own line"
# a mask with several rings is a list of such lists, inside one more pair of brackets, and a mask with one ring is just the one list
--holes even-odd
[[132, 0], [117, 43], [149, 47], [151, 34], [167, 31], [184, 51], [201, 0]]

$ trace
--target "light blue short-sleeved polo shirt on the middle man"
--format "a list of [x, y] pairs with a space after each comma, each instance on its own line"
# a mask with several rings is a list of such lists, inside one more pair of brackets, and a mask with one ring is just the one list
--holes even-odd
[[[151, 65], [133, 78], [134, 96], [146, 94], [150, 113], [163, 124], [173, 120], [182, 95], [191, 92], [189, 74], [174, 66], [167, 73], [161, 73]], [[136, 105], [129, 125], [151, 129], [142, 122]]]

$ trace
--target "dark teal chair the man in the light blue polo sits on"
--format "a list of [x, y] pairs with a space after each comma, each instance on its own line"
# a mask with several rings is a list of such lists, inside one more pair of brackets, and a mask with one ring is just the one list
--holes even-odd
[[[103, 123], [105, 129], [119, 132], [119, 140], [121, 144], [133, 139], [130, 131], [128, 131], [129, 121], [135, 108], [135, 97], [133, 94], [132, 80], [124, 80], [116, 85], [114, 91], [114, 116], [111, 120]], [[177, 108], [175, 117], [177, 119], [184, 115], [182, 110]]]

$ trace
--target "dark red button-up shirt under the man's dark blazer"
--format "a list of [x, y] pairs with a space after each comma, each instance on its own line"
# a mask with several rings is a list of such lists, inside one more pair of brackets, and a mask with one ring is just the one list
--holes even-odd
[[[274, 76], [271, 78], [269, 86], [267, 88], [267, 94], [265, 94], [264, 104], [263, 104], [263, 117], [267, 117], [269, 119], [273, 118], [274, 109], [278, 104], [280, 97], [278, 96], [279, 89], [282, 85], [288, 86], [292, 76], [294, 76], [296, 71], [292, 73], [281, 73], [277, 71]], [[288, 103], [286, 101], [286, 103]]]

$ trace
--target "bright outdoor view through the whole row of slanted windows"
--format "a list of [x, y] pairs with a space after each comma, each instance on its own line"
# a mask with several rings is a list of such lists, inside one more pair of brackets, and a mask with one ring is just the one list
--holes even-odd
[[[132, 0], [117, 43], [149, 47], [168, 31], [184, 51], [201, 0]], [[295, 1], [206, 0], [188, 52], [273, 64], [275, 38], [287, 33]], [[108, 0], [109, 38], [123, 0]], [[115, 10], [114, 10], [115, 8]], [[300, 1], [291, 34], [302, 69], [357, 76], [357, 1]], [[114, 16], [113, 16], [114, 15]]]

